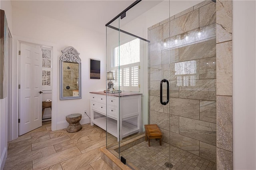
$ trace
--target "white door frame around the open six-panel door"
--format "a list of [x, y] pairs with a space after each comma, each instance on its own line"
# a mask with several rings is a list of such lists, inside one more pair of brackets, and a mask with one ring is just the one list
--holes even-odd
[[57, 100], [58, 100], [58, 56], [57, 56], [57, 45], [55, 43], [46, 42], [42, 40], [36, 40], [33, 38], [26, 38], [21, 36], [13, 36], [12, 38], [12, 120], [11, 120], [11, 140], [18, 138], [18, 116], [19, 116], [19, 44], [20, 43], [31, 43], [42, 46], [52, 47], [52, 130], [57, 130]]

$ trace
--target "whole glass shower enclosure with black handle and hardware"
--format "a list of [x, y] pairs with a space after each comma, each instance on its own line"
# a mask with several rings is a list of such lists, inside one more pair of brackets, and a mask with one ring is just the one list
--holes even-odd
[[216, 169], [216, 3], [128, 8], [106, 24], [107, 149], [132, 169]]

